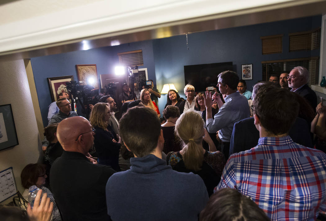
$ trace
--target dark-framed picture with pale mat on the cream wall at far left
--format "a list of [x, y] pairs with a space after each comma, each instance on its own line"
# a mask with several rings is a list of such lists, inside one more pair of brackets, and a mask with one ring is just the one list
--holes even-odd
[[0, 150], [18, 144], [11, 104], [0, 105]]

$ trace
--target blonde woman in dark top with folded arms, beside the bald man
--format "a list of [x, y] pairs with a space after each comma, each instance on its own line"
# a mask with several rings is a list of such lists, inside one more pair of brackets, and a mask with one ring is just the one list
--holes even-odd
[[89, 121], [95, 129], [94, 146], [98, 154], [98, 163], [109, 165], [114, 170], [120, 171], [119, 153], [121, 141], [107, 123], [110, 115], [110, 105], [108, 103], [97, 103], [92, 109]]

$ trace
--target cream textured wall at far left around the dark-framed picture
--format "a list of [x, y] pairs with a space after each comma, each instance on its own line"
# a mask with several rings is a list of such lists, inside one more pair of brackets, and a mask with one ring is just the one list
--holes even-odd
[[[0, 171], [13, 167], [17, 188], [23, 191], [20, 173], [27, 164], [36, 163], [40, 156], [37, 123], [24, 61], [0, 60], [0, 70], [0, 105], [11, 104], [19, 142], [15, 147], [0, 151]], [[9, 200], [12, 198], [5, 203]]]

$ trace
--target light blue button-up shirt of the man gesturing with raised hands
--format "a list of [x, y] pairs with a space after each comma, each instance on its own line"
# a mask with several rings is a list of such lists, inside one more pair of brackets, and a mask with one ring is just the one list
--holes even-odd
[[209, 133], [216, 133], [223, 142], [230, 142], [234, 123], [244, 118], [250, 117], [249, 104], [245, 96], [239, 92], [234, 92], [225, 97], [225, 104], [217, 114], [206, 120]]

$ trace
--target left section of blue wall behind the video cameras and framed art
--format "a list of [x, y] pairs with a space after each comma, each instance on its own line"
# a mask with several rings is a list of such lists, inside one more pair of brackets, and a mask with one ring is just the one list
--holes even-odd
[[48, 125], [48, 106], [52, 102], [47, 78], [73, 75], [74, 80], [78, 81], [76, 65], [86, 64], [96, 64], [98, 78], [100, 78], [100, 74], [114, 73], [114, 67], [119, 66], [118, 52], [139, 49], [142, 49], [144, 59], [144, 65], [139, 66], [139, 68], [146, 67], [148, 78], [152, 79], [155, 83], [152, 41], [141, 41], [119, 46], [90, 49], [87, 51], [76, 51], [31, 58], [43, 125]]

